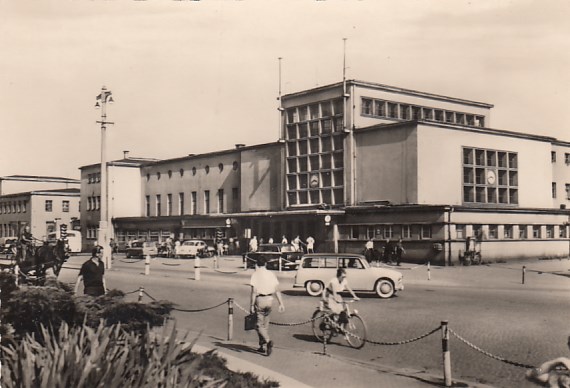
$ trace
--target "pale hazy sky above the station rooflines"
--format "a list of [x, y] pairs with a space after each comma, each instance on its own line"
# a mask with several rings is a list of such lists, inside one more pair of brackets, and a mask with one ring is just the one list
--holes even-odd
[[110, 160], [274, 142], [279, 86], [340, 82], [344, 53], [347, 79], [570, 141], [568, 20], [567, 0], [0, 0], [0, 176], [100, 163], [103, 86]]

